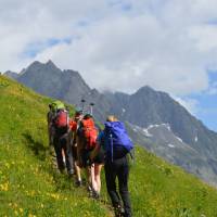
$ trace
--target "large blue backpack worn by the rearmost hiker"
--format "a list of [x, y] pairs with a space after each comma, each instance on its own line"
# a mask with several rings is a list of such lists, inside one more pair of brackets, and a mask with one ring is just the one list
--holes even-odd
[[132, 141], [127, 135], [125, 126], [120, 122], [106, 122], [104, 128], [105, 150], [107, 155], [112, 157], [115, 148], [123, 146], [129, 153], [133, 149]]

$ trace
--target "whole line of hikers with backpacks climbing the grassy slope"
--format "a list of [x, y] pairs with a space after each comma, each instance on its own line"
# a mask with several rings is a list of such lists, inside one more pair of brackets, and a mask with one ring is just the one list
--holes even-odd
[[131, 153], [133, 144], [124, 124], [111, 115], [101, 130], [95, 126], [91, 114], [84, 114], [84, 107], [77, 110], [73, 118], [69, 118], [69, 112], [61, 101], [50, 103], [49, 108], [49, 143], [54, 148], [59, 170], [63, 173], [66, 167], [68, 176], [75, 175], [76, 186], [80, 187], [84, 183], [81, 168], [85, 168], [89, 195], [99, 199], [100, 176], [104, 165], [106, 189], [115, 216], [131, 217], [127, 154]]

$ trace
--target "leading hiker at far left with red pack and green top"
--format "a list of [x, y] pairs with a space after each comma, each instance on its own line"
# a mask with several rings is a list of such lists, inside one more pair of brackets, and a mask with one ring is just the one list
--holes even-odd
[[[73, 156], [69, 144], [69, 115], [64, 104], [60, 101], [55, 101], [55, 116], [53, 118], [53, 126], [55, 133], [53, 137], [53, 145], [56, 154], [58, 168], [61, 173], [67, 168], [67, 174], [72, 176], [73, 169]], [[65, 163], [64, 163], [65, 155]]]

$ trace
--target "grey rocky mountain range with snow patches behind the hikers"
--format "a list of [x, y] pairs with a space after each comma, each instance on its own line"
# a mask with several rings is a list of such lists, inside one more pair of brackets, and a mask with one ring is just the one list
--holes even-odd
[[35, 91], [82, 106], [93, 102], [95, 119], [115, 114], [127, 125], [132, 140], [203, 180], [217, 184], [217, 133], [207, 129], [168, 93], [142, 87], [133, 94], [91, 89], [78, 72], [56, 67], [52, 61], [34, 62], [20, 74], [4, 75]]

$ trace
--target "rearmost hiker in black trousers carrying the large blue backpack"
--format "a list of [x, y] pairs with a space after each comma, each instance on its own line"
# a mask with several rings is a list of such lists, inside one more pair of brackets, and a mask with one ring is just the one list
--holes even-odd
[[[104, 125], [105, 128], [99, 133], [95, 149], [91, 153], [90, 158], [95, 156], [101, 146], [104, 148], [105, 181], [115, 216], [131, 217], [131, 203], [128, 192], [129, 165], [127, 154], [133, 145], [127, 136], [124, 124], [118, 122], [115, 116], [108, 116]], [[116, 190], [116, 177], [118, 179], [119, 194]], [[124, 210], [120, 197], [124, 204]]]

